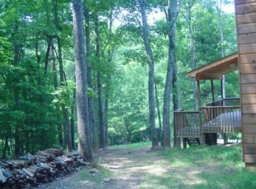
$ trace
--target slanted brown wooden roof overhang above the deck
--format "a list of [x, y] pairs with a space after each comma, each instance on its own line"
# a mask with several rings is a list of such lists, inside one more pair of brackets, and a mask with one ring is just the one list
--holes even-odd
[[224, 74], [238, 69], [238, 52], [187, 73], [196, 80], [222, 79]]

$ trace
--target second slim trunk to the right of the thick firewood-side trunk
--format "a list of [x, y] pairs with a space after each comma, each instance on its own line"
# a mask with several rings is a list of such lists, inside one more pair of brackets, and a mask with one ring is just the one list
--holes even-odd
[[[95, 20], [95, 34], [96, 34], [96, 57], [97, 62], [100, 63], [100, 36], [98, 28], [98, 18]], [[103, 92], [101, 84], [100, 70], [97, 71], [97, 93], [98, 93], [98, 106], [99, 106], [99, 128], [100, 128], [100, 149], [105, 149], [105, 128], [104, 128], [104, 117], [103, 117]]]

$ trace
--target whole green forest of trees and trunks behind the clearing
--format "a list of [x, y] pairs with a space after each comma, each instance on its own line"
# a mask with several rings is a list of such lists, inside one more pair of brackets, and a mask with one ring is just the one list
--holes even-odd
[[[173, 111], [197, 108], [187, 72], [237, 51], [235, 14], [224, 9], [231, 3], [1, 1], [0, 157], [72, 151], [83, 129], [89, 151], [145, 140], [171, 146]], [[209, 86], [201, 83], [203, 103]], [[225, 88], [239, 96], [237, 73], [226, 74]]]

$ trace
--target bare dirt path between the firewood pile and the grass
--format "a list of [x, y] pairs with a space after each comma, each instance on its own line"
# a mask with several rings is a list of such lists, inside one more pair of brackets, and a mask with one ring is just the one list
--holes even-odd
[[[69, 175], [55, 182], [40, 185], [42, 189], [81, 189], [81, 188], [139, 188], [147, 182], [149, 174], [165, 174], [168, 170], [156, 167], [157, 163], [165, 163], [154, 153], [149, 153], [150, 147], [139, 149], [106, 149], [94, 154], [101, 171], [97, 168], [86, 169]], [[154, 163], [154, 166], [152, 165]], [[111, 176], [103, 177], [102, 172], [111, 172]], [[91, 173], [89, 173], [91, 172]], [[88, 173], [88, 174], [87, 174]], [[100, 180], [99, 180], [100, 179]]]

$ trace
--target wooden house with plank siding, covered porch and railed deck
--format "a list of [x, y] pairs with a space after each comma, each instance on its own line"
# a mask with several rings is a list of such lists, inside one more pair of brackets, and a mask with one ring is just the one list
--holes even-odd
[[[177, 143], [195, 138], [200, 143], [215, 142], [216, 133], [241, 132], [243, 161], [246, 168], [256, 167], [256, 0], [235, 0], [235, 17], [238, 53], [231, 54], [210, 65], [190, 71], [195, 77], [200, 94], [200, 80], [219, 79], [223, 74], [239, 69], [240, 98], [215, 101], [212, 87], [212, 103], [201, 106], [198, 95], [198, 111], [174, 113], [174, 134]], [[211, 82], [213, 85], [213, 82]], [[206, 142], [209, 142], [206, 141]]]

